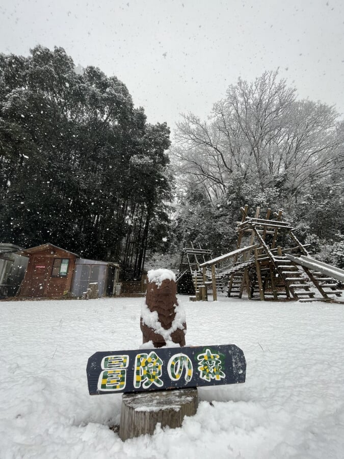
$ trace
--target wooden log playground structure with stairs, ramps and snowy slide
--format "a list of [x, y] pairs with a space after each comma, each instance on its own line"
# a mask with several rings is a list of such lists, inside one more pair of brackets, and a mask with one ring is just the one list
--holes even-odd
[[192, 286], [190, 280], [186, 286], [195, 293], [190, 300], [206, 301], [208, 289], [214, 301], [218, 292], [242, 298], [245, 291], [249, 299], [261, 301], [331, 301], [342, 295], [344, 270], [311, 258], [292, 225], [282, 220], [282, 211], [272, 213], [268, 209], [260, 218], [257, 208], [254, 217], [249, 217], [245, 206], [241, 214], [232, 252], [211, 259], [210, 250], [193, 244], [181, 249], [177, 282], [192, 279]]

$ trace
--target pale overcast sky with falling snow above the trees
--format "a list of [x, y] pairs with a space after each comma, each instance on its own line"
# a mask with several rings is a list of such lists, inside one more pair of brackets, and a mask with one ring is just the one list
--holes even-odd
[[343, 0], [0, 0], [0, 52], [62, 46], [127, 86], [149, 122], [206, 118], [238, 77], [280, 67], [344, 112]]

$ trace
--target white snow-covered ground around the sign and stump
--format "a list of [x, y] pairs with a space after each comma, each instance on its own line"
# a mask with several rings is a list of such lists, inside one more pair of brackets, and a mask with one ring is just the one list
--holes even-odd
[[344, 457], [343, 305], [187, 299], [187, 345], [241, 347], [246, 383], [201, 388], [181, 428], [124, 443], [121, 395], [90, 396], [86, 364], [141, 344], [144, 299], [0, 302], [1, 459]]

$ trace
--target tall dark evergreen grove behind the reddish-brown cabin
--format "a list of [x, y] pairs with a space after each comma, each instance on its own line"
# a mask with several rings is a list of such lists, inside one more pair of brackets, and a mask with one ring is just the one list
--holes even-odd
[[0, 55], [1, 239], [120, 259], [139, 276], [154, 209], [170, 199], [169, 134], [116, 77], [77, 74], [63, 48]]

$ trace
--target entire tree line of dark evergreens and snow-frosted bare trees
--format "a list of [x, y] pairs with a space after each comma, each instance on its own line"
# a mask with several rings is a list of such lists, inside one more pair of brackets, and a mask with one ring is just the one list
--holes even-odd
[[[224, 88], [225, 89], [225, 88]], [[126, 88], [63, 48], [0, 54], [0, 241], [45, 242], [178, 267], [183, 241], [235, 248], [240, 208], [282, 209], [309, 251], [344, 268], [344, 122], [266, 71], [239, 79], [207, 120], [188, 113], [172, 142]]]

